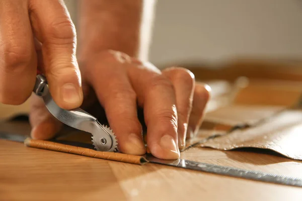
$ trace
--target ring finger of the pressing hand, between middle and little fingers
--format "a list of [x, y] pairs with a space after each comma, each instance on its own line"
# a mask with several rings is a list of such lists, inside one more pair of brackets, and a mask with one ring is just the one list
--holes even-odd
[[189, 116], [192, 110], [194, 74], [185, 68], [168, 68], [163, 71], [174, 85], [178, 120], [178, 146], [184, 149]]

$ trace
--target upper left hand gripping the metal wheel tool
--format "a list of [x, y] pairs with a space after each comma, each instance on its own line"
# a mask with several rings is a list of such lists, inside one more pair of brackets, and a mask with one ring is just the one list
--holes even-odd
[[62, 0], [0, 1], [0, 102], [24, 103], [38, 67], [58, 106], [79, 107], [83, 92], [75, 46], [75, 29]]

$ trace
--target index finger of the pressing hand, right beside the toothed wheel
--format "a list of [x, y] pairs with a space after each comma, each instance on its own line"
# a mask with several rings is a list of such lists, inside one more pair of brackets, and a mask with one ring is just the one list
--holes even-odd
[[123, 153], [142, 155], [145, 146], [142, 128], [137, 118], [136, 94], [128, 80], [123, 65], [125, 55], [104, 52], [95, 58], [93, 64], [86, 65], [86, 79], [95, 89], [97, 97], [105, 109], [110, 127], [114, 130], [119, 150]]

